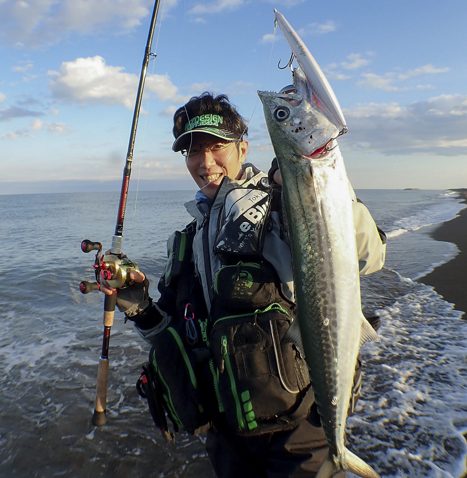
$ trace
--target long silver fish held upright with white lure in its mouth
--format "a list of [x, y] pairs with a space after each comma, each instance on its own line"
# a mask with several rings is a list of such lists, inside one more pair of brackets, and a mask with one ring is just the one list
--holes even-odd
[[311, 53], [275, 13], [297, 48], [299, 68], [292, 69], [290, 87], [258, 95], [282, 177], [297, 321], [329, 445], [316, 476], [350, 471], [361, 478], [380, 478], [345, 447], [357, 355], [367, 340], [379, 342], [361, 309], [351, 186], [336, 141], [347, 130], [345, 119]]

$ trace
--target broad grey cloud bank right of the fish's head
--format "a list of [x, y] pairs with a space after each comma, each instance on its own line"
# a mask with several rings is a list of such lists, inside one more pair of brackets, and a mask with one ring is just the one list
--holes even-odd
[[467, 154], [467, 96], [441, 95], [409, 106], [358, 105], [344, 110], [346, 150], [382, 154]]

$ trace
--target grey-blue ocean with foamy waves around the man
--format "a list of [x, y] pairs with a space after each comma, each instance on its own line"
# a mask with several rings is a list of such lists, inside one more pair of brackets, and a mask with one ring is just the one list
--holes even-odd
[[[361, 280], [381, 343], [362, 348], [363, 390], [347, 420], [349, 448], [384, 477], [463, 477], [467, 321], [417, 279], [456, 255], [428, 233], [465, 204], [448, 191], [357, 190], [388, 235], [385, 268]], [[167, 237], [190, 221], [193, 191], [129, 196], [124, 251], [151, 295]], [[90, 424], [102, 340], [102, 296], [83, 295], [94, 254], [109, 248], [118, 193], [0, 196], [0, 476], [214, 477], [203, 437], [167, 445], [134, 383], [149, 347], [123, 315], [110, 339], [108, 423]]]

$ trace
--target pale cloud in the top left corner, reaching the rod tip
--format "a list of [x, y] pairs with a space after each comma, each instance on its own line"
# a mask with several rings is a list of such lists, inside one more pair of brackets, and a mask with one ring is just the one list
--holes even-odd
[[[167, 1], [164, 11], [176, 0]], [[69, 33], [131, 31], [149, 16], [152, 0], [0, 1], [0, 35], [17, 48], [58, 43]]]

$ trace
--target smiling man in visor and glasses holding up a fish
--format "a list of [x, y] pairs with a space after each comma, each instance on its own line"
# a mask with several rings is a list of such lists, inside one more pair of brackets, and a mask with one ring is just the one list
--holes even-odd
[[[174, 114], [173, 151], [200, 190], [194, 221], [167, 244], [153, 304], [132, 272], [117, 305], [153, 348], [156, 401], [178, 428], [209, 424], [220, 478], [313, 477], [327, 454], [300, 334], [277, 163], [245, 163], [247, 126], [225, 95], [204, 92]], [[384, 263], [384, 233], [353, 201], [360, 273]], [[106, 294], [115, 290], [102, 280]], [[359, 365], [353, 404], [358, 398]], [[351, 406], [353, 411], [353, 406]]]

